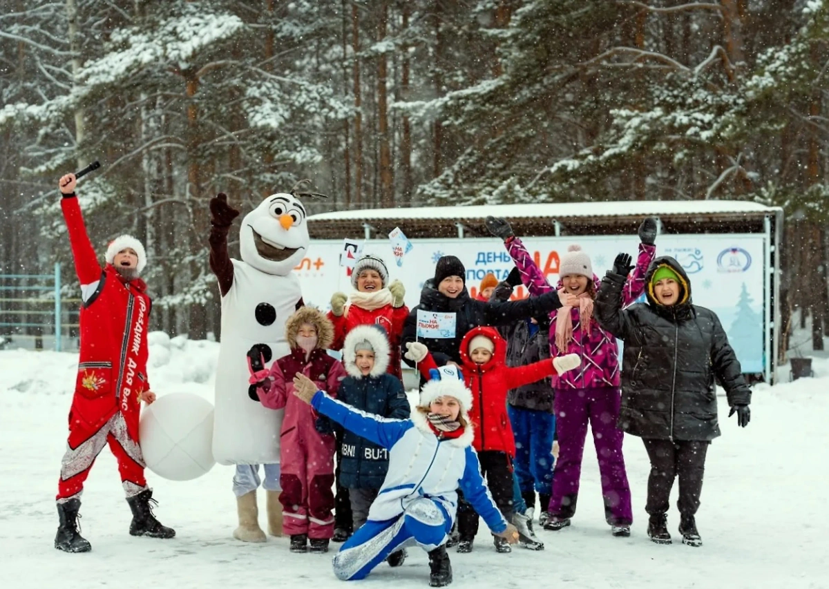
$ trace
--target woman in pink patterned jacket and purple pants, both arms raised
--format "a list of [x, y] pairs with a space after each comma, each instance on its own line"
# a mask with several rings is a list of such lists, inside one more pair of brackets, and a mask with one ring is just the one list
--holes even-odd
[[[553, 289], [506, 220], [487, 217], [487, 229], [504, 240], [521, 273], [521, 282], [524, 282], [531, 297]], [[623, 290], [623, 304], [626, 306], [644, 292], [645, 273], [656, 253], [653, 245], [656, 236], [656, 220], [645, 220], [639, 227], [642, 244], [639, 245], [637, 265]], [[581, 368], [553, 380], [559, 459], [553, 471], [550, 515], [544, 529], [565, 528], [575, 514], [589, 422], [599, 458], [604, 517], [614, 536], [626, 537], [630, 535], [633, 513], [622, 455], [623, 432], [616, 428], [621, 399], [618, 345], [616, 339], [599, 327], [593, 317], [593, 303], [601, 282], [593, 273], [587, 253], [578, 245], [571, 245], [560, 260], [559, 275], [560, 281], [555, 289], [568, 297], [565, 307], [551, 314], [550, 354], [554, 358], [578, 354], [581, 356]]]

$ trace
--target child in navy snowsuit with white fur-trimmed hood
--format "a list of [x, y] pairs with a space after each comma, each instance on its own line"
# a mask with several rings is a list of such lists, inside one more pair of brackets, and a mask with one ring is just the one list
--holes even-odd
[[[348, 376], [337, 390], [337, 399], [366, 413], [382, 418], [408, 419], [409, 398], [403, 383], [388, 374], [389, 340], [376, 326], [356, 326], [342, 345], [342, 364]], [[348, 490], [354, 531], [366, 523], [369, 508], [376, 499], [389, 469], [389, 453], [355, 432], [338, 428], [341, 440], [340, 485]], [[405, 551], [389, 557], [391, 566], [400, 566]]]

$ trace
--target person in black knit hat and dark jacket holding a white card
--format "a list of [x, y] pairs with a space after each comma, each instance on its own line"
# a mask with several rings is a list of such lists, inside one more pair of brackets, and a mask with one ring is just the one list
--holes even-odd
[[[551, 291], [541, 297], [523, 301], [483, 302], [469, 296], [466, 287], [466, 268], [455, 256], [444, 256], [434, 268], [434, 278], [424, 283], [420, 304], [411, 310], [403, 328], [402, 351], [407, 344], [419, 341], [426, 345], [439, 366], [453, 362], [461, 364], [460, 345], [463, 336], [474, 327], [510, 325], [526, 317], [548, 315], [561, 307], [558, 293]], [[453, 312], [456, 314], [455, 336], [446, 339], [418, 338], [417, 311]], [[406, 364], [414, 362], [405, 358]], [[424, 384], [421, 378], [421, 384]]]

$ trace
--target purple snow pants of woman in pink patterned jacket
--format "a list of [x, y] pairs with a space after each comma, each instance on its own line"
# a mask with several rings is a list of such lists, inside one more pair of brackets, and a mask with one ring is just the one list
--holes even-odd
[[551, 516], [572, 518], [575, 514], [589, 421], [599, 455], [604, 518], [610, 525], [633, 524], [630, 485], [622, 456], [623, 432], [616, 427], [621, 401], [620, 390], [612, 387], [556, 389], [555, 427], [559, 439], [559, 459], [553, 471]]

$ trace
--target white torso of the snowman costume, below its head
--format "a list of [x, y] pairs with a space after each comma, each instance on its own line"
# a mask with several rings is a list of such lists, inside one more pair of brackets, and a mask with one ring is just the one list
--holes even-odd
[[[267, 274], [233, 260], [233, 286], [221, 299], [221, 349], [216, 370], [213, 457], [219, 464], [279, 462], [284, 412], [265, 408], [248, 396], [247, 351], [255, 344], [269, 345], [271, 363], [287, 355], [285, 321], [296, 311], [301, 297], [293, 273]], [[255, 310], [261, 303], [276, 310], [276, 320], [269, 326], [256, 320]]]

